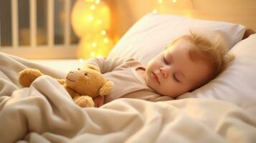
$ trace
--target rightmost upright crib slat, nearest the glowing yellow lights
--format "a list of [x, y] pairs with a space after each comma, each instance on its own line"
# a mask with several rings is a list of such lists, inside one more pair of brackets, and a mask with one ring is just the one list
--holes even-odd
[[64, 44], [70, 45], [70, 0], [65, 0], [65, 28], [64, 28]]

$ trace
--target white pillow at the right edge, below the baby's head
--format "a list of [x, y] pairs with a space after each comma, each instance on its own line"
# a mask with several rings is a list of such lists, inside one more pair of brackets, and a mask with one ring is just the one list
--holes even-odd
[[229, 52], [236, 58], [228, 69], [209, 84], [178, 99], [222, 99], [256, 115], [256, 34], [240, 41]]

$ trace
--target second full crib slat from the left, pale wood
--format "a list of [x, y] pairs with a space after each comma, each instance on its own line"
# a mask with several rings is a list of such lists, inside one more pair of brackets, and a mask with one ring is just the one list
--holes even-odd
[[37, 45], [37, 0], [30, 0], [30, 44]]

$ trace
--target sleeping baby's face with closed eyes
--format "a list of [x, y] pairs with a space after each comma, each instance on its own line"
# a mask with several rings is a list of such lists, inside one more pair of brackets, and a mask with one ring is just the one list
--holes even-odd
[[206, 61], [194, 61], [189, 49], [194, 44], [187, 39], [176, 41], [149, 61], [146, 66], [146, 83], [158, 94], [169, 97], [189, 92], [212, 75]]

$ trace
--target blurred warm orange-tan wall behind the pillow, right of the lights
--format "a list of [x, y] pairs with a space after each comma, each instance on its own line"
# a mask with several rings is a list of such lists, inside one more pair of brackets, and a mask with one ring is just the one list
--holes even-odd
[[256, 31], [255, 0], [104, 0], [113, 14], [110, 34], [123, 36], [138, 19], [154, 9], [177, 14], [243, 24]]

